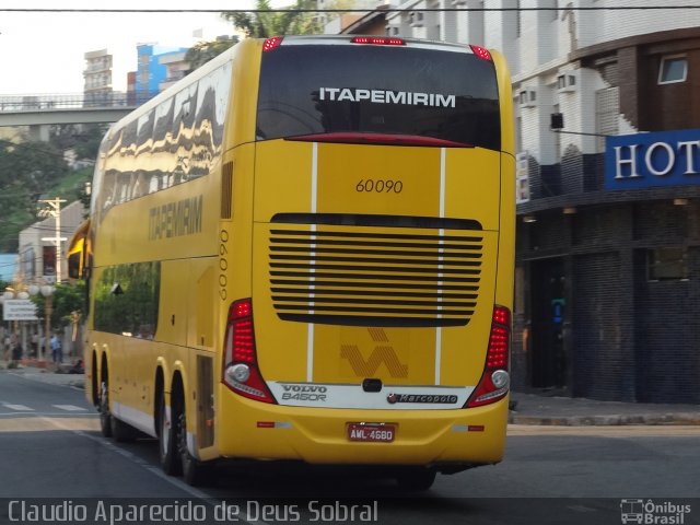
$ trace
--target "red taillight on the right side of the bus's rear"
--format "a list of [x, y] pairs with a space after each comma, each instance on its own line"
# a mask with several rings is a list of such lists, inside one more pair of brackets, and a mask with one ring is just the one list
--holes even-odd
[[505, 306], [493, 307], [489, 348], [479, 385], [467, 401], [467, 407], [480, 407], [503, 398], [511, 377], [508, 372], [511, 347], [511, 311]]

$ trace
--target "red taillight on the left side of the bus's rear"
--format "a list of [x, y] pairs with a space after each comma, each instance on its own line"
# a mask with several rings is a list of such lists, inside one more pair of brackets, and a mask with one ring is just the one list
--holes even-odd
[[256, 401], [275, 402], [258, 369], [253, 328], [253, 303], [234, 302], [229, 310], [223, 353], [223, 383], [236, 394]]

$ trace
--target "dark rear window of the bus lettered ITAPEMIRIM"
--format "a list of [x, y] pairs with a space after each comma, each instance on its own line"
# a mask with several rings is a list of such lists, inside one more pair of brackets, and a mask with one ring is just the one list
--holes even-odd
[[258, 140], [359, 133], [500, 150], [493, 63], [411, 47], [282, 45], [262, 54]]

